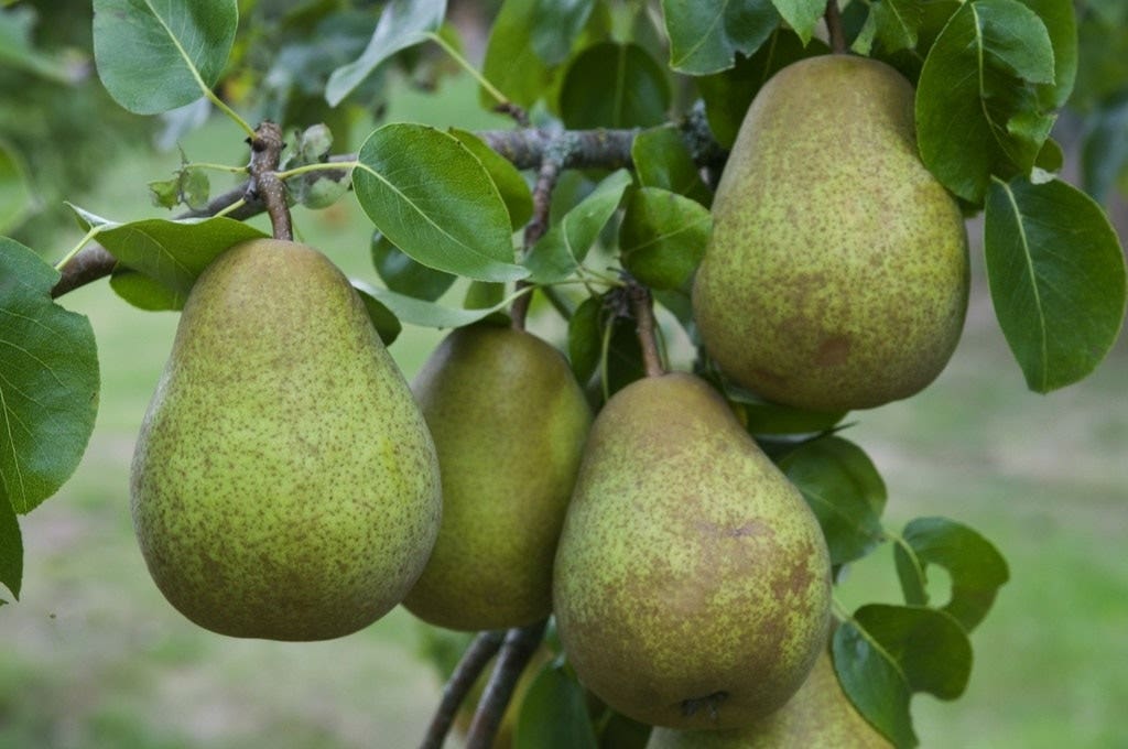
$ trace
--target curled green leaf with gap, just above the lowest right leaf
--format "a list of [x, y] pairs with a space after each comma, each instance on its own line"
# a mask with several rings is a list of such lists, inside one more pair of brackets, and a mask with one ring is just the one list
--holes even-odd
[[923, 587], [918, 588], [926, 579], [927, 565], [944, 567], [952, 578], [952, 598], [944, 610], [966, 632], [982, 622], [998, 589], [1011, 576], [1006, 559], [990, 541], [946, 518], [917, 518], [905, 527], [901, 540], [905, 546], [895, 547], [897, 571], [902, 582], [908, 581], [906, 598], [917, 599], [908, 602], [927, 602], [926, 594], [919, 600]]

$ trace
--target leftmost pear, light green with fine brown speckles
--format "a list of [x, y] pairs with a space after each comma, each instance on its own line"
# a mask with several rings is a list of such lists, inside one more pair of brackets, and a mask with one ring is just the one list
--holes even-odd
[[255, 239], [199, 277], [133, 457], [157, 587], [237, 637], [309, 641], [395, 607], [441, 519], [426, 423], [317, 250]]

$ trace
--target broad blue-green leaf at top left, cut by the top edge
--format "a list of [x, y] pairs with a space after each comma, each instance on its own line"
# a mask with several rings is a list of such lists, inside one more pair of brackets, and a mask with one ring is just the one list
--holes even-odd
[[134, 114], [191, 104], [219, 80], [238, 25], [236, 0], [94, 0], [98, 77]]

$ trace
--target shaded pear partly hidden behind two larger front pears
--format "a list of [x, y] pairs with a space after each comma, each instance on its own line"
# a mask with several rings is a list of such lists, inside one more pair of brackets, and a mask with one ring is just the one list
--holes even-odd
[[501, 629], [552, 611], [553, 557], [591, 409], [537, 336], [451, 333], [412, 384], [442, 472], [439, 540], [404, 605], [451, 629]]

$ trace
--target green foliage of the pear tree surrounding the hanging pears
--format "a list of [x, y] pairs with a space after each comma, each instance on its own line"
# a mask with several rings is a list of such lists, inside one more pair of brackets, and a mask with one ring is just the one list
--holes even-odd
[[[986, 214], [995, 309], [1030, 387], [1047, 391], [1083, 378], [1119, 331], [1125, 270], [1100, 206], [1055, 176], [1063, 156], [1049, 135], [1078, 68], [1072, 3], [844, 5], [853, 50], [889, 62], [917, 86], [926, 166], [969, 213]], [[201, 100], [241, 123], [214, 89], [222, 82], [232, 102], [252, 100], [246, 91], [254, 89], [262, 112], [288, 126], [325, 122], [340, 140], [337, 129], [352, 123], [350, 107], [378, 108], [381, 80], [395, 65], [409, 59], [411, 74], [425, 77], [441, 69], [422, 52], [434, 46], [460, 59], [457, 32], [443, 26], [443, 0], [389, 0], [378, 14], [340, 2], [277, 11], [266, 2], [240, 6], [262, 26], [237, 34], [235, 0], [160, 9], [96, 0], [102, 82], [126, 109], [171, 112], [182, 123]], [[1090, 3], [1082, 27], [1108, 21], [1117, 7]], [[329, 164], [332, 140], [315, 127], [296, 143], [298, 156], [283, 176], [294, 201], [316, 208], [343, 195], [342, 170], [351, 171], [355, 200], [376, 231], [371, 253], [384, 282], [356, 285], [386, 341], [404, 323], [457, 327], [504, 314], [532, 285], [566, 320], [578, 378], [598, 384], [606, 398], [642, 372], [624, 279], [649, 287], [675, 320], [668, 325], [680, 325], [696, 342], [688, 289], [712, 223], [710, 155], [717, 143], [732, 143], [773, 72], [827, 52], [817, 38], [825, 9], [823, 0], [505, 0], [475, 71], [482, 104], [528, 112], [539, 129], [515, 130], [506, 140], [387, 124], [358, 153]], [[358, 36], [358, 28], [365, 34]], [[280, 39], [276, 56], [264, 60]], [[1110, 104], [1119, 92], [1086, 94], [1095, 123], [1090, 143], [1104, 143], [1091, 149], [1128, 148], [1122, 130], [1117, 135], [1109, 124], [1123, 116]], [[305, 120], [310, 116], [316, 120]], [[1102, 126], [1107, 136], [1098, 134]], [[517, 136], [539, 143], [532, 164], [501, 147]], [[576, 164], [588, 168], [570, 168]], [[185, 167], [159, 194], [168, 203], [205, 205], [196, 171]], [[548, 215], [536, 215], [553, 187]], [[178, 309], [212, 258], [259, 236], [224, 217], [112, 221], [76, 213], [88, 238], [118, 261], [114, 289], [143, 309]], [[547, 231], [515, 252], [519, 230], [546, 218]], [[33, 509], [73, 470], [92, 426], [97, 361], [89, 325], [50, 301], [58, 272], [26, 247], [2, 241], [0, 345], [15, 354], [0, 364], [0, 424], [8, 428], [0, 437], [0, 582], [18, 594], [15, 513]], [[464, 289], [461, 303], [450, 301], [456, 287]], [[864, 451], [841, 437], [845, 414], [765, 403], [723, 382], [704, 355], [696, 368], [724, 388], [749, 432], [803, 492], [836, 570], [879, 548], [893, 550], [904, 603], [839, 611], [834, 654], [858, 710], [897, 746], [914, 744], [911, 696], [962, 694], [971, 667], [968, 634], [1007, 579], [1003, 557], [952, 520], [920, 518], [900, 532], [884, 527], [884, 484]], [[934, 565], [952, 579], [948, 601], [927, 593]], [[539, 728], [519, 729], [518, 746], [593, 747], [613, 724], [592, 726], [581, 687], [559, 659], [538, 675], [525, 710], [530, 717], [519, 725]]]

